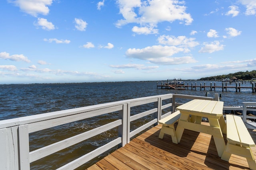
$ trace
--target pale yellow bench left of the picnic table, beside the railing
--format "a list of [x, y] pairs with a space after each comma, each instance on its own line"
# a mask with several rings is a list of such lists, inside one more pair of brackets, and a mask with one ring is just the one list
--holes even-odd
[[180, 119], [180, 111], [175, 111], [174, 113], [164, 117], [159, 120], [158, 123], [162, 125], [159, 138], [163, 139], [164, 134], [168, 134], [172, 136], [172, 142], [178, 144], [174, 123], [179, 121]]

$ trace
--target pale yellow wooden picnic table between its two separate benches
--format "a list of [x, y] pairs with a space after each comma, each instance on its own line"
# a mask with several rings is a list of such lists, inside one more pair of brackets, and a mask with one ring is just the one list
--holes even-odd
[[[221, 157], [226, 147], [222, 133], [225, 133], [223, 117], [223, 102], [214, 100], [194, 99], [176, 108], [180, 111], [180, 119], [176, 128], [178, 143], [180, 143], [184, 129], [210, 134]], [[202, 117], [206, 117], [209, 125], [202, 125]]]

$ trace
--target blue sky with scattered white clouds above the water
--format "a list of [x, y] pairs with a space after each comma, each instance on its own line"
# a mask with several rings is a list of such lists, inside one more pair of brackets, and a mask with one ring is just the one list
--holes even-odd
[[256, 69], [256, 0], [1, 0], [0, 16], [0, 84]]

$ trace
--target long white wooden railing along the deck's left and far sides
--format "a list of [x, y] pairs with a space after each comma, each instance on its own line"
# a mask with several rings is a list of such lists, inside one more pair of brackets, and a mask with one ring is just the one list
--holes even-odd
[[[152, 125], [157, 125], [159, 119], [170, 115], [175, 111], [176, 106], [180, 105], [175, 102], [177, 98], [218, 100], [218, 94], [215, 98], [165, 94], [2, 120], [0, 121], [0, 167], [5, 170], [28, 170], [31, 162], [118, 127], [116, 139], [58, 168], [75, 169], [117, 145], [126, 145], [134, 135]], [[166, 100], [167, 104], [163, 104]], [[131, 115], [132, 107], [145, 104], [153, 104], [154, 108]], [[166, 109], [169, 111], [163, 114], [162, 111]], [[118, 112], [118, 119], [115, 121], [30, 152], [30, 133], [113, 112]], [[147, 115], [152, 115], [154, 119], [131, 131], [130, 123]]]

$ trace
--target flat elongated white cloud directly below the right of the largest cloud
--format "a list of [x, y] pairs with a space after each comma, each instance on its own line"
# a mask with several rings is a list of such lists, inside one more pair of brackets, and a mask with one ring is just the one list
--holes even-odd
[[178, 47], [195, 47], [199, 45], [199, 43], [194, 40], [195, 38], [187, 38], [186, 36], [174, 37], [172, 35], [161, 35], [158, 37], [158, 43]]

